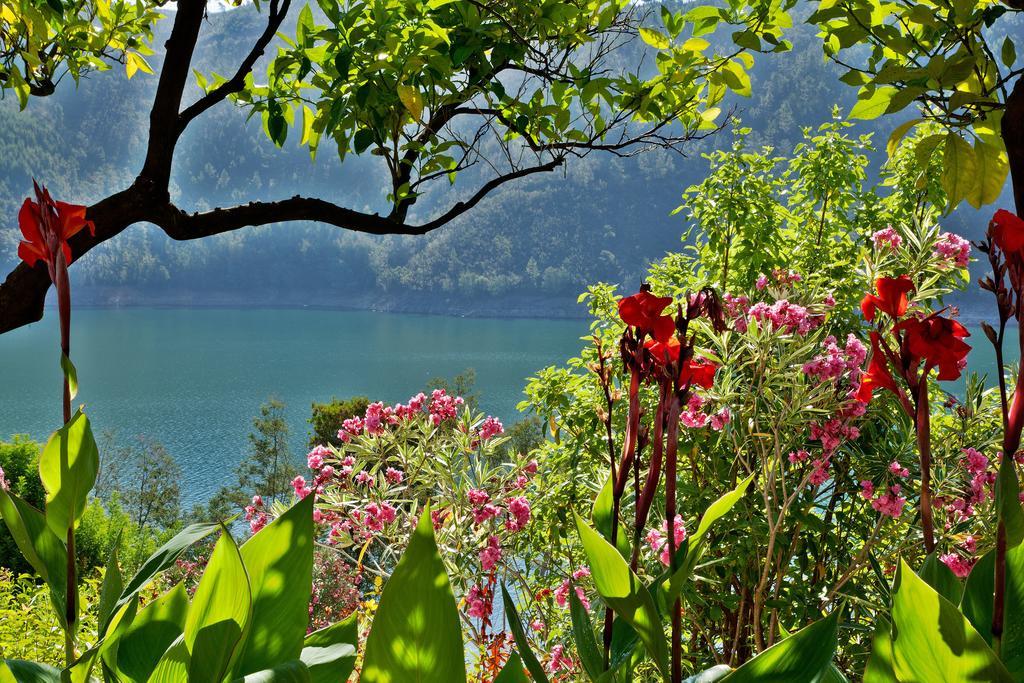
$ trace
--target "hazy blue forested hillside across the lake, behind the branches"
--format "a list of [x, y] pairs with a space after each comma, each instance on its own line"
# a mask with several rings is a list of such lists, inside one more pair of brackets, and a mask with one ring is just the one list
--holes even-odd
[[[211, 14], [195, 66], [228, 72], [248, 48], [260, 17], [243, 8]], [[163, 23], [167, 31], [169, 22]], [[158, 37], [157, 44], [162, 43]], [[787, 153], [801, 126], [817, 125], [855, 92], [823, 62], [814, 30], [794, 32], [790, 53], [760, 56], [754, 97], [734, 101], [753, 142]], [[637, 48], [642, 49], [641, 47]], [[159, 63], [159, 57], [156, 59]], [[94, 75], [76, 90], [18, 113], [0, 102], [0, 267], [13, 264], [14, 216], [31, 178], [58, 197], [96, 200], [130, 182], [143, 150], [156, 84], [139, 75]], [[860, 125], [882, 131], [891, 120]], [[878, 136], [877, 136], [878, 137]], [[189, 243], [137, 226], [90, 252], [73, 268], [77, 301], [91, 304], [317, 305], [468, 314], [572, 314], [577, 294], [604, 280], [636, 283], [646, 264], [678, 249], [684, 224], [670, 216], [682, 190], [706, 172], [700, 158], [728, 133], [694, 143], [686, 157], [595, 155], [558, 175], [506, 185], [463, 219], [423, 238], [373, 238], [312, 224], [288, 224]], [[881, 162], [882, 157], [878, 156]], [[468, 176], [467, 176], [468, 179]], [[370, 159], [341, 169], [329, 151], [315, 164], [293, 141], [275, 148], [245, 113], [223, 104], [189, 129], [173, 182], [180, 205], [317, 195], [359, 209], [384, 210], [384, 177]], [[466, 191], [457, 183], [446, 191]], [[451, 201], [451, 198], [444, 198]], [[430, 212], [431, 203], [418, 205]], [[951, 229], [977, 238], [957, 214]]]

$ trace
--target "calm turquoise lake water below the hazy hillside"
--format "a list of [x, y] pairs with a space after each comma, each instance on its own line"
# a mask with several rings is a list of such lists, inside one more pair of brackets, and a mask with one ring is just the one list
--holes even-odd
[[[404, 400], [431, 377], [476, 370], [481, 410], [515, 422], [525, 379], [574, 355], [584, 321], [486, 319], [274, 309], [76, 310], [72, 357], [98, 432], [162, 442], [198, 502], [231, 480], [251, 420], [287, 403], [305, 454], [309, 404], [365, 394]], [[0, 335], [0, 439], [44, 439], [60, 424], [55, 315]]]

